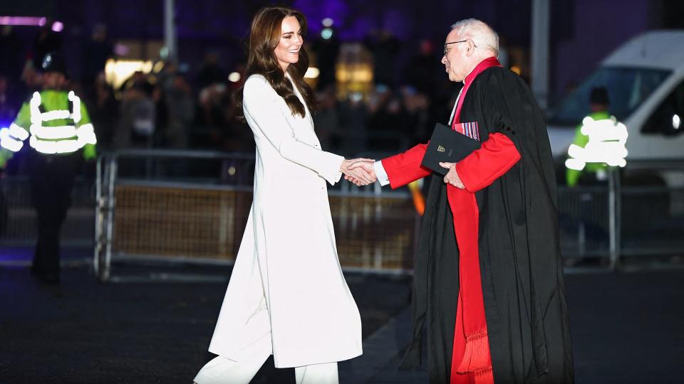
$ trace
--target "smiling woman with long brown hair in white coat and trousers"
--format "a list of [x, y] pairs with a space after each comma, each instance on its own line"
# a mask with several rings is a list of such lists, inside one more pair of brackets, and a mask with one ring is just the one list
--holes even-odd
[[361, 355], [361, 319], [344, 280], [326, 181], [371, 183], [355, 160], [321, 149], [304, 82], [304, 15], [266, 8], [252, 21], [247, 81], [236, 98], [254, 132], [254, 201], [197, 384], [249, 383], [271, 353], [296, 383], [338, 383]]

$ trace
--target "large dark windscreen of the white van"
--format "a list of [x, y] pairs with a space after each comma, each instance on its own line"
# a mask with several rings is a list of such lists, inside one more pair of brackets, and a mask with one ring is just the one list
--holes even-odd
[[601, 67], [562, 100], [552, 112], [549, 124], [576, 125], [589, 114], [591, 88], [606, 87], [608, 112], [624, 120], [650, 96], [670, 70], [647, 68]]

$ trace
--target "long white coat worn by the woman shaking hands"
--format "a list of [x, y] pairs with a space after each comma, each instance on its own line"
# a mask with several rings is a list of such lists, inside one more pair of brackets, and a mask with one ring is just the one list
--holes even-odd
[[270, 332], [277, 368], [359, 356], [361, 317], [326, 186], [340, 180], [343, 157], [322, 151], [309, 110], [292, 116], [261, 75], [245, 82], [243, 107], [257, 143], [254, 201], [209, 351], [239, 361]]

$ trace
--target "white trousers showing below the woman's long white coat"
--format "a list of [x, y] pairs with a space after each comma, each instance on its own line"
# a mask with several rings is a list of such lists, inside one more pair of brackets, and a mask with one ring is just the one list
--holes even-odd
[[[271, 334], [244, 348], [240, 360], [217, 356], [195, 376], [197, 384], [249, 384], [273, 353]], [[338, 384], [337, 362], [294, 368], [296, 384]]]

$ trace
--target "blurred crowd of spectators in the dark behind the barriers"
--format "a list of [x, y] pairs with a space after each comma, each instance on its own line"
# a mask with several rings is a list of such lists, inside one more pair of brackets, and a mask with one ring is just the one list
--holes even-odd
[[[60, 50], [60, 33], [49, 23], [40, 28], [33, 42], [22, 43], [11, 28], [0, 33], [0, 125], [7, 126], [21, 103], [41, 88], [38, 70], [46, 53]], [[375, 61], [371, 92], [351, 92], [340, 97], [334, 81], [337, 41], [315, 41], [321, 75], [316, 96], [314, 122], [323, 148], [351, 156], [396, 151], [425, 142], [435, 122], [450, 112], [455, 87], [448, 82], [440, 54], [429, 41], [415, 47], [403, 70], [392, 58], [398, 41], [379, 34], [364, 42]], [[219, 51], [209, 51], [194, 70], [167, 62], [151, 73], [134, 73], [118, 89], [105, 81], [105, 63], [115, 57], [107, 29], [93, 28], [83, 45], [80, 69], [70, 87], [86, 102], [99, 151], [126, 148], [210, 149], [251, 152], [254, 141], [249, 127], [238, 118], [232, 94], [241, 81], [229, 79]], [[332, 59], [331, 59], [332, 58]], [[393, 75], [394, 74], [394, 75]]]

